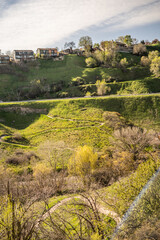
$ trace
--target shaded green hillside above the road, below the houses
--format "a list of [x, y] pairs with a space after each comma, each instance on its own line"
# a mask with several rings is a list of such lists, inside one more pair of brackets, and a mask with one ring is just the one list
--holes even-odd
[[[150, 76], [148, 68], [140, 66], [140, 57], [121, 53], [128, 68], [87, 68], [85, 58], [65, 56], [63, 61], [38, 60], [22, 65], [0, 68], [0, 99], [4, 101], [96, 95], [96, 81], [106, 79], [109, 94], [159, 91], [159, 79]], [[78, 80], [77, 80], [78, 79]], [[81, 81], [81, 82], [75, 82]], [[127, 81], [127, 82], [125, 82]]]

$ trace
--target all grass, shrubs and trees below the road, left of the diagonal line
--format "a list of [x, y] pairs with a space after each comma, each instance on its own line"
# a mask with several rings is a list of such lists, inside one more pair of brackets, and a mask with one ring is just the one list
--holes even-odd
[[1, 239], [110, 239], [160, 165], [159, 101], [148, 95], [1, 103]]

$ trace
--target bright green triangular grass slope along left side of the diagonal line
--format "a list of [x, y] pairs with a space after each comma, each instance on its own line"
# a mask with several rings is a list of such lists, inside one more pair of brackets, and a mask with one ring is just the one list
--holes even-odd
[[104, 201], [107, 199], [108, 207], [122, 217], [159, 166], [159, 160], [156, 163], [153, 160], [141, 163], [134, 173], [100, 189], [99, 194]]

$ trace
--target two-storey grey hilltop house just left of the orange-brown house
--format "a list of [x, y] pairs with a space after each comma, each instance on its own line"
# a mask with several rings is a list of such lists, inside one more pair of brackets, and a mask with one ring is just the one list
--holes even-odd
[[33, 61], [35, 56], [32, 50], [14, 50], [13, 59], [15, 62], [28, 62]]

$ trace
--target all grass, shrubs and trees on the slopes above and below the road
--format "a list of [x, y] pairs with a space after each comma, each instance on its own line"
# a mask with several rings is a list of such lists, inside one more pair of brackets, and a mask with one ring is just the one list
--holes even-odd
[[[34, 99], [0, 103], [2, 240], [109, 240], [160, 167], [159, 43], [88, 42], [83, 56], [0, 67], [1, 100]], [[153, 180], [115, 239], [159, 239]]]

